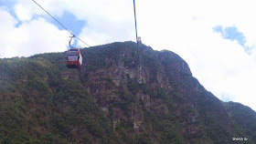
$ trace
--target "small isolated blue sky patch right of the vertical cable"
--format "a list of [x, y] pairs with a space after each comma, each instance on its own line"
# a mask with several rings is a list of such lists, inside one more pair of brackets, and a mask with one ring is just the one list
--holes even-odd
[[243, 36], [243, 34], [240, 33], [240, 31], [236, 26], [229, 26], [229, 27], [215, 26], [212, 29], [215, 32], [220, 33], [224, 39], [229, 39], [231, 41], [237, 40], [240, 46], [244, 46], [244, 44], [246, 43], [245, 36]]

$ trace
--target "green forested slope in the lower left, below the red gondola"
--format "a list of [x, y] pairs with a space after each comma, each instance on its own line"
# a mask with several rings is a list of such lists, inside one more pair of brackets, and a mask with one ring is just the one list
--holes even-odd
[[63, 80], [50, 63], [57, 58], [44, 57], [1, 61], [0, 143], [75, 143], [78, 136], [120, 143], [85, 87]]

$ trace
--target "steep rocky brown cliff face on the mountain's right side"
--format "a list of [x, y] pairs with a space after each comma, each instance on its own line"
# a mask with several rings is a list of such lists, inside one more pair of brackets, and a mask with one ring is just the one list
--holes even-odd
[[[179, 139], [177, 141], [185, 143], [193, 143], [193, 140], [198, 139], [208, 142], [230, 141], [232, 135], [229, 133], [220, 134], [214, 131], [213, 135], [216, 136], [208, 135], [207, 130], [211, 130], [206, 129], [208, 125], [215, 127], [216, 124], [227, 131], [231, 129], [229, 117], [219, 99], [192, 77], [183, 59], [169, 51], [156, 52], [150, 47], [143, 46], [143, 84], [139, 85], [139, 68], [136, 63], [128, 68], [129, 74], [125, 73], [129, 65], [124, 62], [127, 58], [134, 57], [134, 49], [123, 45], [122, 48], [116, 49], [116, 52], [115, 58], [105, 59], [105, 67], [91, 71], [87, 75], [90, 83], [87, 89], [97, 104], [104, 109], [106, 116], [112, 119], [113, 128], [116, 129], [123, 123], [133, 123], [136, 134], [147, 134], [148, 139], [155, 138], [152, 139], [154, 143], [161, 143], [163, 137], [166, 141]], [[93, 65], [90, 61], [88, 63]], [[128, 97], [129, 100], [124, 97]], [[147, 114], [152, 116], [146, 116]], [[162, 126], [165, 128], [154, 126], [155, 122], [150, 119], [151, 117], [159, 122], [167, 121]], [[206, 122], [208, 119], [212, 121]], [[169, 130], [168, 134], [173, 135], [173, 138], [163, 136], [165, 134], [162, 130]], [[129, 134], [123, 138], [127, 136]], [[221, 140], [218, 141], [219, 139]]]

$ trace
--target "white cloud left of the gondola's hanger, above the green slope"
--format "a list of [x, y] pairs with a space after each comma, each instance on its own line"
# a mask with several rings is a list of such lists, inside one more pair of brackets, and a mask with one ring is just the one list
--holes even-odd
[[60, 31], [57, 26], [37, 18], [24, 22], [16, 27], [16, 19], [0, 10], [1, 23], [1, 57], [28, 57], [46, 52], [65, 51], [69, 42], [69, 34]]

